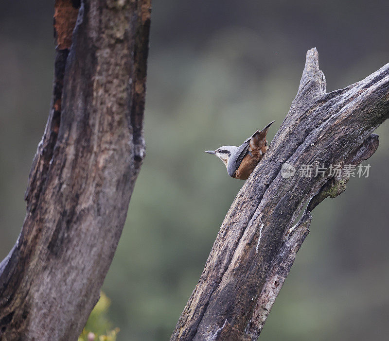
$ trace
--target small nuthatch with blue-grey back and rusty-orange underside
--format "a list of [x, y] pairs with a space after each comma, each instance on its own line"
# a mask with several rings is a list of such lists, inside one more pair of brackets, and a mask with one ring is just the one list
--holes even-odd
[[261, 131], [257, 130], [239, 147], [223, 146], [215, 151], [205, 151], [205, 153], [216, 155], [222, 160], [227, 167], [228, 175], [231, 177], [246, 180], [269, 148], [266, 134], [273, 123], [274, 121], [270, 122]]

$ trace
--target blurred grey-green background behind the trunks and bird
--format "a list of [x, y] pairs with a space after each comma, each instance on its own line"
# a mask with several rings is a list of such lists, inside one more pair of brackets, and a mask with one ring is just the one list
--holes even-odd
[[[203, 153], [240, 144], [293, 100], [316, 46], [327, 90], [389, 62], [385, 0], [154, 0], [147, 156], [103, 290], [118, 340], [167, 340], [243, 181]], [[53, 79], [53, 1], [0, 3], [0, 257], [23, 193]], [[311, 233], [261, 340], [388, 340], [388, 123], [370, 177], [313, 212]]]

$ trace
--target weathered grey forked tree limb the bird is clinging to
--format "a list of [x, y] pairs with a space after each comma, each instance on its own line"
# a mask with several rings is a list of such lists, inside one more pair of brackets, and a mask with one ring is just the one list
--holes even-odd
[[389, 117], [389, 64], [345, 89], [325, 88], [318, 52], [309, 50], [290, 111], [232, 203], [171, 340], [256, 340], [308, 234], [310, 210], [347, 182], [344, 173], [283, 178], [282, 165], [358, 164], [377, 149], [371, 132]]

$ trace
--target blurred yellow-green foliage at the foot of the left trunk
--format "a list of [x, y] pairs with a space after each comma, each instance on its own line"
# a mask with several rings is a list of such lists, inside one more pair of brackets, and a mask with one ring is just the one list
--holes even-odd
[[110, 305], [110, 299], [104, 292], [101, 292], [100, 299], [91, 311], [78, 341], [116, 341], [120, 329], [111, 329], [112, 323], [107, 316]]

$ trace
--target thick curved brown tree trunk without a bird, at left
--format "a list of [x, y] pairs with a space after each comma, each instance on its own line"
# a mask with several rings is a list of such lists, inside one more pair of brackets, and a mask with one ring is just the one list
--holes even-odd
[[0, 265], [1, 340], [76, 340], [144, 156], [150, 0], [56, 0], [51, 111], [18, 241]]

